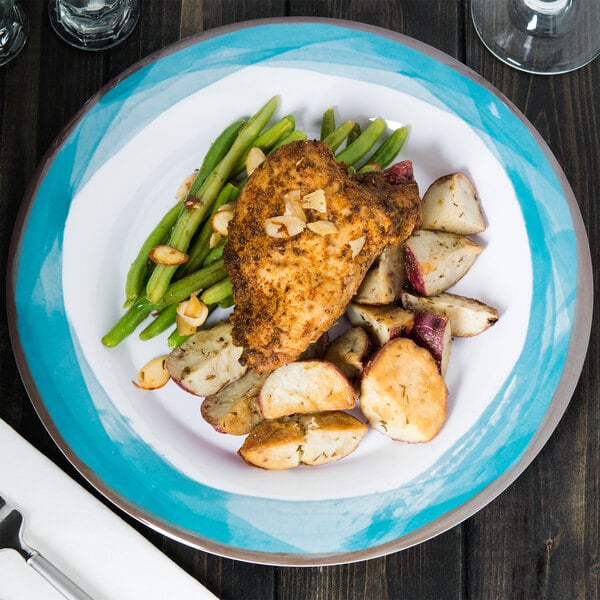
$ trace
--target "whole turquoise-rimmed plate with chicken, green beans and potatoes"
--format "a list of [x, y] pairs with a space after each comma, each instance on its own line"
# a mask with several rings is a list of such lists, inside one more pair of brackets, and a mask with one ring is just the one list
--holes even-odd
[[589, 247], [539, 134], [439, 51], [237, 24], [92, 98], [29, 188], [11, 339], [82, 475], [186, 544], [384, 555], [547, 441], [591, 326]]

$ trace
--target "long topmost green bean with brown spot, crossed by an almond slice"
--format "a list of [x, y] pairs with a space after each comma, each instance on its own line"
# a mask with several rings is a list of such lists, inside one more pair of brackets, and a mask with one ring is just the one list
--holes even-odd
[[[206, 178], [198, 195], [190, 194], [186, 200], [186, 210], [179, 216], [173, 228], [169, 245], [185, 252], [190, 241], [204, 220], [206, 213], [215, 198], [225, 185], [227, 178], [236, 162], [251, 146], [258, 134], [273, 116], [279, 97], [271, 98], [248, 122], [240, 129], [238, 136], [221, 162]], [[151, 302], [158, 302], [169, 286], [177, 266], [157, 264], [146, 285], [146, 294]]]

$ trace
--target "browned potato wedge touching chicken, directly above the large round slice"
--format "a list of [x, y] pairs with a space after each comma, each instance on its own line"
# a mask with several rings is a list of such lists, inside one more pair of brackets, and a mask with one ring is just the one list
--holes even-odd
[[394, 337], [408, 335], [413, 327], [413, 313], [394, 304], [368, 306], [352, 302], [346, 316], [352, 325], [365, 327], [380, 346]]

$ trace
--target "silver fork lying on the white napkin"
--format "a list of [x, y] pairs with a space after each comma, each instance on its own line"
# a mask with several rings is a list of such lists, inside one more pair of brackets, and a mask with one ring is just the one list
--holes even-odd
[[48, 580], [65, 598], [92, 600], [77, 584], [71, 581], [37, 550], [23, 540], [23, 515], [0, 496], [0, 550], [16, 550], [40, 575]]

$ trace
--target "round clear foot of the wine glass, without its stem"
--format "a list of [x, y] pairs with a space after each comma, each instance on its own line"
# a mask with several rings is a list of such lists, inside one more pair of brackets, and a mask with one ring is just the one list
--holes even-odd
[[534, 16], [529, 23], [516, 23], [514, 0], [472, 0], [471, 15], [481, 41], [502, 62], [527, 73], [558, 75], [600, 55], [600, 10], [590, 6], [579, 5], [568, 27], [558, 32], [536, 32]]

